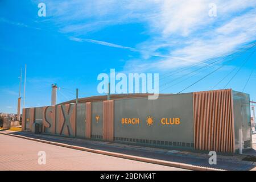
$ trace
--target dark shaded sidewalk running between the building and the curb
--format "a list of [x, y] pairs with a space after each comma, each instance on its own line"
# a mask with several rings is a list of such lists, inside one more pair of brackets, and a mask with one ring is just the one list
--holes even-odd
[[[127, 144], [99, 142], [86, 139], [56, 137], [51, 135], [34, 135], [28, 132], [11, 132], [1, 131], [1, 133], [11, 133], [18, 136], [29, 137], [33, 139], [41, 139], [49, 142], [57, 142], [60, 144], [68, 144], [77, 147], [86, 147], [92, 150], [101, 150], [106, 152], [115, 152], [123, 155], [137, 156], [141, 158], [163, 160], [166, 162], [174, 162], [188, 164], [196, 167], [216, 168], [224, 170], [253, 170], [254, 162], [243, 161], [245, 155], [234, 156], [217, 156], [217, 165], [208, 163], [209, 156], [207, 154], [198, 154], [195, 152], [170, 151], [161, 148], [139, 147]], [[192, 168], [191, 168], [192, 169]]]

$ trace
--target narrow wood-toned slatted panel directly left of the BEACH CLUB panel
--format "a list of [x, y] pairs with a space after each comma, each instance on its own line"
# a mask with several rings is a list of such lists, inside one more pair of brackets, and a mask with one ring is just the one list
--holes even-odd
[[112, 142], [114, 139], [114, 101], [103, 102], [103, 139]]

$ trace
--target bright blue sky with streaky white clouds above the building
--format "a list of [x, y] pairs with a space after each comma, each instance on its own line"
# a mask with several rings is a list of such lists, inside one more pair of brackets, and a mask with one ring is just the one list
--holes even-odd
[[[38, 16], [40, 2], [46, 17]], [[217, 16], [208, 15], [210, 3]], [[2, 0], [0, 112], [16, 112], [25, 63], [26, 107], [49, 105], [55, 82], [58, 103], [75, 98], [76, 88], [80, 97], [98, 95], [97, 76], [110, 68], [159, 73], [160, 93], [177, 93], [219, 67], [184, 92], [210, 90], [221, 80], [214, 89], [223, 89], [239, 70], [226, 88], [242, 91], [251, 75], [244, 92], [255, 101], [256, 52], [241, 67], [255, 49], [248, 49], [255, 25], [256, 0]], [[204, 68], [208, 59], [216, 63]]]

